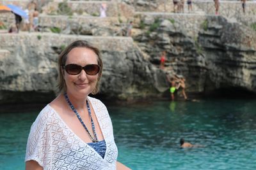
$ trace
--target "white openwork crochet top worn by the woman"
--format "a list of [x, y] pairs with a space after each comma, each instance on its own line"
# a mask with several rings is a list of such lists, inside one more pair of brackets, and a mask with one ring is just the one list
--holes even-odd
[[106, 106], [88, 97], [106, 141], [104, 159], [84, 143], [49, 106], [39, 113], [31, 126], [25, 161], [35, 160], [46, 169], [116, 169], [118, 151]]

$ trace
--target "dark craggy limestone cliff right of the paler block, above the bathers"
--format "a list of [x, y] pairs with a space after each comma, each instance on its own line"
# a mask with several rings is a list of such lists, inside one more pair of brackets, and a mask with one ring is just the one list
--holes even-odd
[[166, 51], [166, 71], [182, 74], [187, 92], [230, 88], [256, 92], [256, 36], [250, 27], [209, 16], [191, 36], [177, 20], [143, 19], [144, 31], [134, 38], [138, 46], [153, 64], [159, 64]]

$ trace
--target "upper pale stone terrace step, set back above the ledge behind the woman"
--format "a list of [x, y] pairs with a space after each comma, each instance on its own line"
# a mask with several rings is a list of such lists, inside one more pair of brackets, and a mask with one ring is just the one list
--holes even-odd
[[125, 25], [120, 23], [120, 20], [118, 20], [117, 17], [40, 16], [40, 27], [42, 27], [42, 32], [53, 32], [58, 29], [56, 31], [60, 31], [61, 34], [121, 36], [121, 29], [122, 27], [125, 27]]

